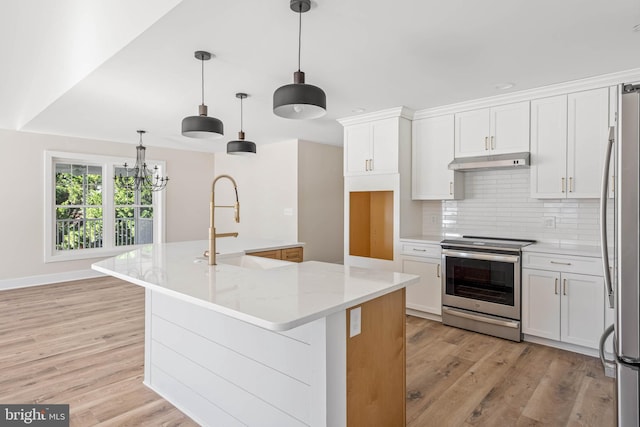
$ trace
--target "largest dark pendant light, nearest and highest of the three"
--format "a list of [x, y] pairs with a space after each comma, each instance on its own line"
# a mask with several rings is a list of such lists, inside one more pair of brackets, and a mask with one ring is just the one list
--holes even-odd
[[298, 13], [298, 71], [293, 73], [293, 84], [279, 87], [273, 93], [273, 112], [287, 119], [317, 119], [327, 113], [327, 96], [317, 86], [304, 82], [300, 71], [302, 14], [311, 9], [311, 0], [290, 0], [291, 10]]

